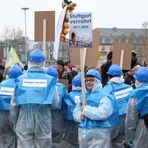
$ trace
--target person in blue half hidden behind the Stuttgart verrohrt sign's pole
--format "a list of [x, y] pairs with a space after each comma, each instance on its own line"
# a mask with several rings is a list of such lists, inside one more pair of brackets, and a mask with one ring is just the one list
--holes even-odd
[[81, 75], [77, 74], [72, 79], [72, 91], [69, 93], [69, 99], [66, 99], [66, 127], [64, 140], [73, 148], [78, 148], [78, 127], [79, 124], [73, 119], [73, 110], [77, 103], [80, 103]]

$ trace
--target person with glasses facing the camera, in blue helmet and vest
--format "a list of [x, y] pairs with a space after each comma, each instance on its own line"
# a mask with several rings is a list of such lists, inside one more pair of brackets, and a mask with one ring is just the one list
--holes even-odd
[[102, 91], [101, 75], [90, 69], [85, 75], [86, 106], [77, 104], [73, 115], [79, 122], [80, 148], [109, 148], [113, 126], [118, 125], [119, 113], [112, 97]]

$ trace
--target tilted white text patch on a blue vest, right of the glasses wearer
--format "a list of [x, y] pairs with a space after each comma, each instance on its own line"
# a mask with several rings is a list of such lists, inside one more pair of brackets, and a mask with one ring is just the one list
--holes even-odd
[[128, 93], [133, 90], [133, 88], [127, 88], [120, 91], [114, 92], [116, 100], [127, 97]]

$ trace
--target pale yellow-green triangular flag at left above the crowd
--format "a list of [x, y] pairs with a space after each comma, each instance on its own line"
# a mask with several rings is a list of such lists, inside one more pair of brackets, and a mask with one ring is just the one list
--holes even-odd
[[7, 56], [7, 60], [6, 60], [6, 66], [5, 68], [11, 67], [13, 65], [15, 65], [16, 63], [21, 63], [15, 49], [13, 47], [11, 47], [8, 56]]

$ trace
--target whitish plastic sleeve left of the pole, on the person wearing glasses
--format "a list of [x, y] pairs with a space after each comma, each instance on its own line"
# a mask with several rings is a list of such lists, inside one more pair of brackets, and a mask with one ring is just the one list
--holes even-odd
[[80, 115], [83, 114], [82, 107], [78, 103], [73, 111], [73, 118], [76, 122], [81, 122]]

